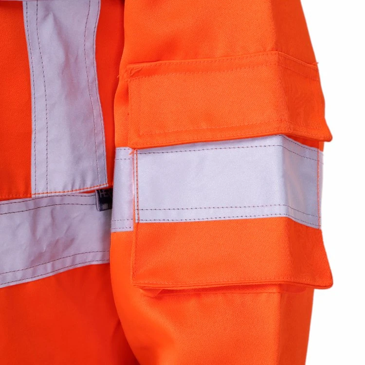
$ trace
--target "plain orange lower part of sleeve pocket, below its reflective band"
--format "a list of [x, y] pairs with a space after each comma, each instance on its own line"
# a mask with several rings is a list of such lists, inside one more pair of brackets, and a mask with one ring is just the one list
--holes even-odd
[[289, 218], [137, 223], [135, 230], [138, 287], [332, 285], [321, 231]]

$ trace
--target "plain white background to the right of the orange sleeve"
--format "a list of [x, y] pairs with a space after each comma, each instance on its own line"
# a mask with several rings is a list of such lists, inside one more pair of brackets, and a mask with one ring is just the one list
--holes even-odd
[[333, 135], [325, 146], [322, 229], [334, 286], [315, 291], [306, 364], [365, 365], [365, 3], [302, 5]]

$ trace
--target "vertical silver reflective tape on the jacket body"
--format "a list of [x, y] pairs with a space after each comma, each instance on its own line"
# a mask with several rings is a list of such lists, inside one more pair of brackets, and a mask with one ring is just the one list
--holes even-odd
[[95, 66], [100, 0], [24, 1], [32, 88], [32, 193], [107, 185]]

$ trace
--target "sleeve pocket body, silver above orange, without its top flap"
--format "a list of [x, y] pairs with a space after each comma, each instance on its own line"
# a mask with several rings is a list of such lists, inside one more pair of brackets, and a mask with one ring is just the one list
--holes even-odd
[[318, 149], [275, 135], [133, 156], [135, 286], [332, 285]]

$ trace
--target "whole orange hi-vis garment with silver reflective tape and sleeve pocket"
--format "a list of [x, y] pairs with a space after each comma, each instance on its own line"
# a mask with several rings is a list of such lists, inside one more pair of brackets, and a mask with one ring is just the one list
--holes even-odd
[[0, 364], [303, 365], [331, 140], [299, 0], [0, 0]]

